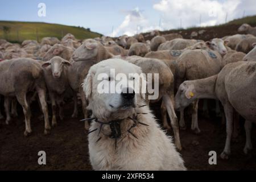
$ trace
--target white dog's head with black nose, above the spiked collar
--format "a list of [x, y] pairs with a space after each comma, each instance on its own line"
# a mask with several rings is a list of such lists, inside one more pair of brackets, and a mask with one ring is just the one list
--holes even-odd
[[144, 97], [146, 79], [141, 68], [122, 59], [108, 59], [93, 65], [83, 84], [88, 109], [104, 121], [124, 119]]

